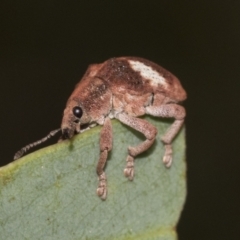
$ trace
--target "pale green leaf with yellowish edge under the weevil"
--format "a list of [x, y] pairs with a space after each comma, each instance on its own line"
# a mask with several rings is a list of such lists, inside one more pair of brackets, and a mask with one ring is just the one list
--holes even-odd
[[173, 143], [172, 167], [166, 169], [160, 136], [171, 122], [146, 119], [158, 128], [158, 136], [136, 158], [133, 181], [123, 175], [127, 147], [144, 137], [112, 121], [106, 201], [96, 195], [101, 127], [2, 167], [0, 239], [177, 239], [186, 196], [184, 129]]

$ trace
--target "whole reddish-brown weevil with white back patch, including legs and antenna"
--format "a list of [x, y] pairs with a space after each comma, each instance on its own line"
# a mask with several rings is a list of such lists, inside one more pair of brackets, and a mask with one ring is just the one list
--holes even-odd
[[177, 77], [146, 59], [119, 57], [102, 64], [90, 65], [67, 101], [61, 129], [52, 131], [45, 138], [22, 148], [16, 153], [15, 159], [60, 130], [62, 139], [70, 139], [75, 133], [81, 133], [96, 124], [102, 125], [100, 157], [96, 170], [99, 179], [97, 194], [104, 200], [107, 196], [104, 166], [108, 152], [112, 149], [113, 138], [110, 119], [116, 118], [146, 137], [139, 145], [128, 147], [124, 175], [133, 180], [134, 158], [150, 148], [157, 134], [155, 126], [138, 117], [148, 114], [175, 119], [161, 138], [165, 146], [163, 162], [166, 167], [170, 167], [171, 143], [186, 115], [184, 107], [178, 103], [186, 97], [187, 94]]

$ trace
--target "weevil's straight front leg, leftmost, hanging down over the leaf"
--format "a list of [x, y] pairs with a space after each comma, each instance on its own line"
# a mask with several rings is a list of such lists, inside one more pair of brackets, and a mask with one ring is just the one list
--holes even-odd
[[106, 118], [100, 133], [100, 158], [97, 164], [98, 188], [97, 195], [105, 200], [107, 197], [107, 177], [104, 167], [107, 161], [108, 152], [112, 149], [112, 125], [110, 118]]

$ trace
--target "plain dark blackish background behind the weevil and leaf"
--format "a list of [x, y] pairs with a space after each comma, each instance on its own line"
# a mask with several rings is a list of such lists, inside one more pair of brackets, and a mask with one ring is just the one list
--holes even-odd
[[188, 92], [179, 239], [240, 239], [239, 0], [2, 0], [0, 31], [1, 165], [60, 126], [89, 64], [144, 57]]

